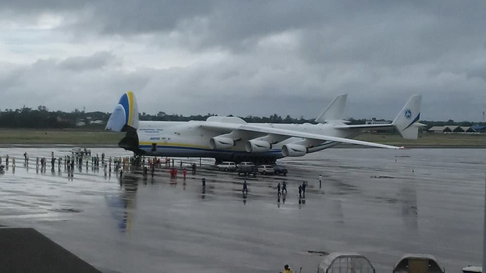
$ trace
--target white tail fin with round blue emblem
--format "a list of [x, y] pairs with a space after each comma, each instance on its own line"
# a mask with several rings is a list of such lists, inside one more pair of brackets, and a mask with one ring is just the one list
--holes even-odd
[[412, 96], [391, 123], [403, 138], [417, 139], [418, 127], [421, 126], [419, 123], [421, 103], [422, 96]]

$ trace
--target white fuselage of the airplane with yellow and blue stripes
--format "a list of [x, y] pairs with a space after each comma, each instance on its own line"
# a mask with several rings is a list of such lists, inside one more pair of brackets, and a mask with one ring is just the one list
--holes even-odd
[[[281, 142], [275, 143], [271, 149], [263, 153], [247, 152], [245, 143], [256, 137], [256, 133], [240, 133], [240, 137], [235, 140], [235, 145], [230, 149], [212, 149], [210, 140], [219, 136], [221, 130], [211, 130], [201, 128], [205, 121], [190, 122], [160, 122], [160, 121], [140, 121], [137, 130], [138, 148], [146, 155], [156, 156], [182, 156], [182, 157], [215, 157], [221, 160], [252, 160], [262, 158], [264, 160], [275, 160], [282, 158], [282, 146], [289, 143], [302, 144], [307, 147], [307, 153], [320, 151], [339, 142], [309, 140], [298, 137], [290, 137]], [[319, 135], [336, 136], [342, 138], [354, 137], [359, 134], [359, 130], [335, 129], [333, 124], [269, 124], [254, 123], [252, 125], [271, 127], [276, 129], [307, 132]], [[260, 137], [266, 134], [262, 133]]]

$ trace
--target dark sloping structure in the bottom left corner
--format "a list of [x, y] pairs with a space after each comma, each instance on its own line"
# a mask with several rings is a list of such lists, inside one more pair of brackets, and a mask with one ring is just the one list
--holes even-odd
[[2, 272], [93, 272], [98, 269], [32, 228], [0, 228]]

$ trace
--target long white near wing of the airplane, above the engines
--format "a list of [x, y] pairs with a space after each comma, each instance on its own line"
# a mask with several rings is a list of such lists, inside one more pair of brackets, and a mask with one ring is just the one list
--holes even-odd
[[204, 125], [201, 125], [201, 127], [207, 128], [207, 129], [240, 130], [240, 131], [254, 132], [254, 133], [259, 133], [259, 134], [275, 134], [275, 135], [288, 136], [288, 137], [301, 137], [301, 138], [309, 138], [309, 139], [316, 139], [316, 140], [322, 140], [322, 141], [336, 141], [336, 142], [342, 142], [342, 143], [350, 143], [350, 144], [365, 145], [365, 146], [372, 146], [372, 147], [379, 147], [379, 148], [388, 148], [388, 149], [403, 149], [403, 147], [396, 147], [396, 146], [379, 144], [379, 143], [374, 143], [374, 142], [367, 142], [367, 141], [354, 140], [354, 139], [349, 139], [349, 138], [304, 133], [304, 132], [299, 132], [299, 131], [277, 129], [277, 128], [271, 128], [271, 127], [248, 125], [248, 124], [206, 122]]

